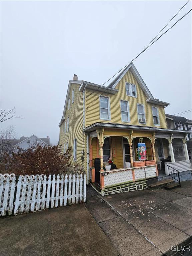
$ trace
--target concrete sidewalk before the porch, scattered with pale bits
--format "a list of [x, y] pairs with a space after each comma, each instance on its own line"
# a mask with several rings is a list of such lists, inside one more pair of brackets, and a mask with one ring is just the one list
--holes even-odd
[[160, 256], [191, 241], [191, 182], [173, 190], [99, 195], [87, 189], [86, 207], [121, 256]]

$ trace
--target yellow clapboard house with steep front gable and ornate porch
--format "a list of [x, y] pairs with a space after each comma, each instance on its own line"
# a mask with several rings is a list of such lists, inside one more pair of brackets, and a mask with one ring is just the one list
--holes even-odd
[[[72, 147], [87, 183], [101, 194], [144, 189], [148, 179], [172, 177], [175, 167], [191, 169], [186, 132], [167, 128], [168, 105], [152, 96], [133, 63], [108, 87], [74, 75], [59, 123], [59, 144], [63, 152]], [[182, 147], [178, 163], [174, 140]]]

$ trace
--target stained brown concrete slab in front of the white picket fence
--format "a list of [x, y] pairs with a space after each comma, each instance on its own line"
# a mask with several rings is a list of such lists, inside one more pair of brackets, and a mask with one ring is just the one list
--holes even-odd
[[0, 256], [117, 256], [85, 204], [0, 219]]

